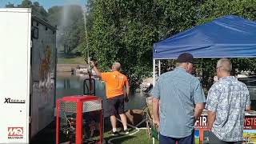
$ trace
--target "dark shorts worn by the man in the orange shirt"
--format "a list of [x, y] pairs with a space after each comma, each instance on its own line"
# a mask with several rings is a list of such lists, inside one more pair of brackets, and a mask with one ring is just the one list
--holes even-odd
[[107, 98], [106, 102], [107, 102], [106, 113], [108, 116], [124, 113], [124, 96], [123, 95], [119, 95], [114, 98]]

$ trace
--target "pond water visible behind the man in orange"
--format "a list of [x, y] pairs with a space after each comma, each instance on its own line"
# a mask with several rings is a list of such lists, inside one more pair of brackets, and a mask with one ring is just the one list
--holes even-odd
[[[56, 98], [82, 95], [84, 79], [86, 79], [86, 76], [57, 73]], [[103, 109], [106, 109], [105, 82], [95, 81], [95, 95], [103, 99]], [[129, 99], [129, 102], [125, 103], [125, 110], [141, 110], [146, 105], [146, 97], [142, 94], [132, 94]]]

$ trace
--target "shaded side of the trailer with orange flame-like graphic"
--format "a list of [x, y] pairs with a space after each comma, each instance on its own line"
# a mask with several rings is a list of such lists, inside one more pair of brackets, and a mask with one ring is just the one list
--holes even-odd
[[56, 81], [56, 30], [36, 17], [32, 29], [38, 37], [32, 37], [31, 50], [31, 137], [54, 120]]

